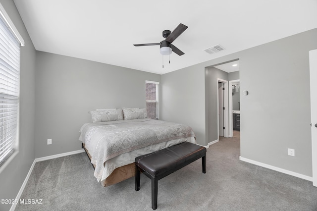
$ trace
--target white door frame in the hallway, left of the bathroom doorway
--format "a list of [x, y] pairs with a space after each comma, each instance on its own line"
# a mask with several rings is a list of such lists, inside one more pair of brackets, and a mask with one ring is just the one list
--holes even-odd
[[223, 106], [224, 106], [224, 131], [223, 137], [229, 137], [229, 122], [228, 122], [228, 81], [221, 78], [217, 78], [217, 137], [219, 138], [219, 92], [218, 92], [218, 83], [223, 83], [224, 93], [223, 93]]

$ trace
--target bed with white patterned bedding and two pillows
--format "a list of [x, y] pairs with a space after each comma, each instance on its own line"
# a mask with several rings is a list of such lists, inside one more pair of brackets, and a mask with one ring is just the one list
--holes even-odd
[[138, 156], [186, 141], [196, 144], [191, 127], [149, 119], [144, 108], [97, 109], [90, 114], [92, 122], [80, 128], [79, 141], [105, 187], [133, 177]]

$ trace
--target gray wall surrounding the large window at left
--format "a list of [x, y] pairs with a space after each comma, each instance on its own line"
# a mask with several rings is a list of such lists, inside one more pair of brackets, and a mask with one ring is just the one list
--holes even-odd
[[[0, 0], [22, 35], [20, 67], [20, 138], [19, 153], [0, 173], [0, 199], [15, 199], [34, 161], [35, 49], [12, 0]], [[0, 210], [11, 205], [0, 204]]]

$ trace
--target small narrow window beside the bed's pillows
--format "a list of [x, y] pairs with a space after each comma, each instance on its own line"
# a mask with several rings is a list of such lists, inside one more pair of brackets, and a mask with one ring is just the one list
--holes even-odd
[[159, 82], [146, 81], [145, 86], [148, 118], [159, 119]]

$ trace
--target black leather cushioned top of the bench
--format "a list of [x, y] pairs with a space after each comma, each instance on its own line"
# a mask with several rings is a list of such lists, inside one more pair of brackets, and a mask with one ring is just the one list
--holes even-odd
[[135, 158], [135, 162], [151, 176], [157, 177], [171, 169], [176, 169], [177, 166], [189, 160], [202, 158], [206, 151], [205, 147], [183, 142], [154, 153], [139, 156]]

